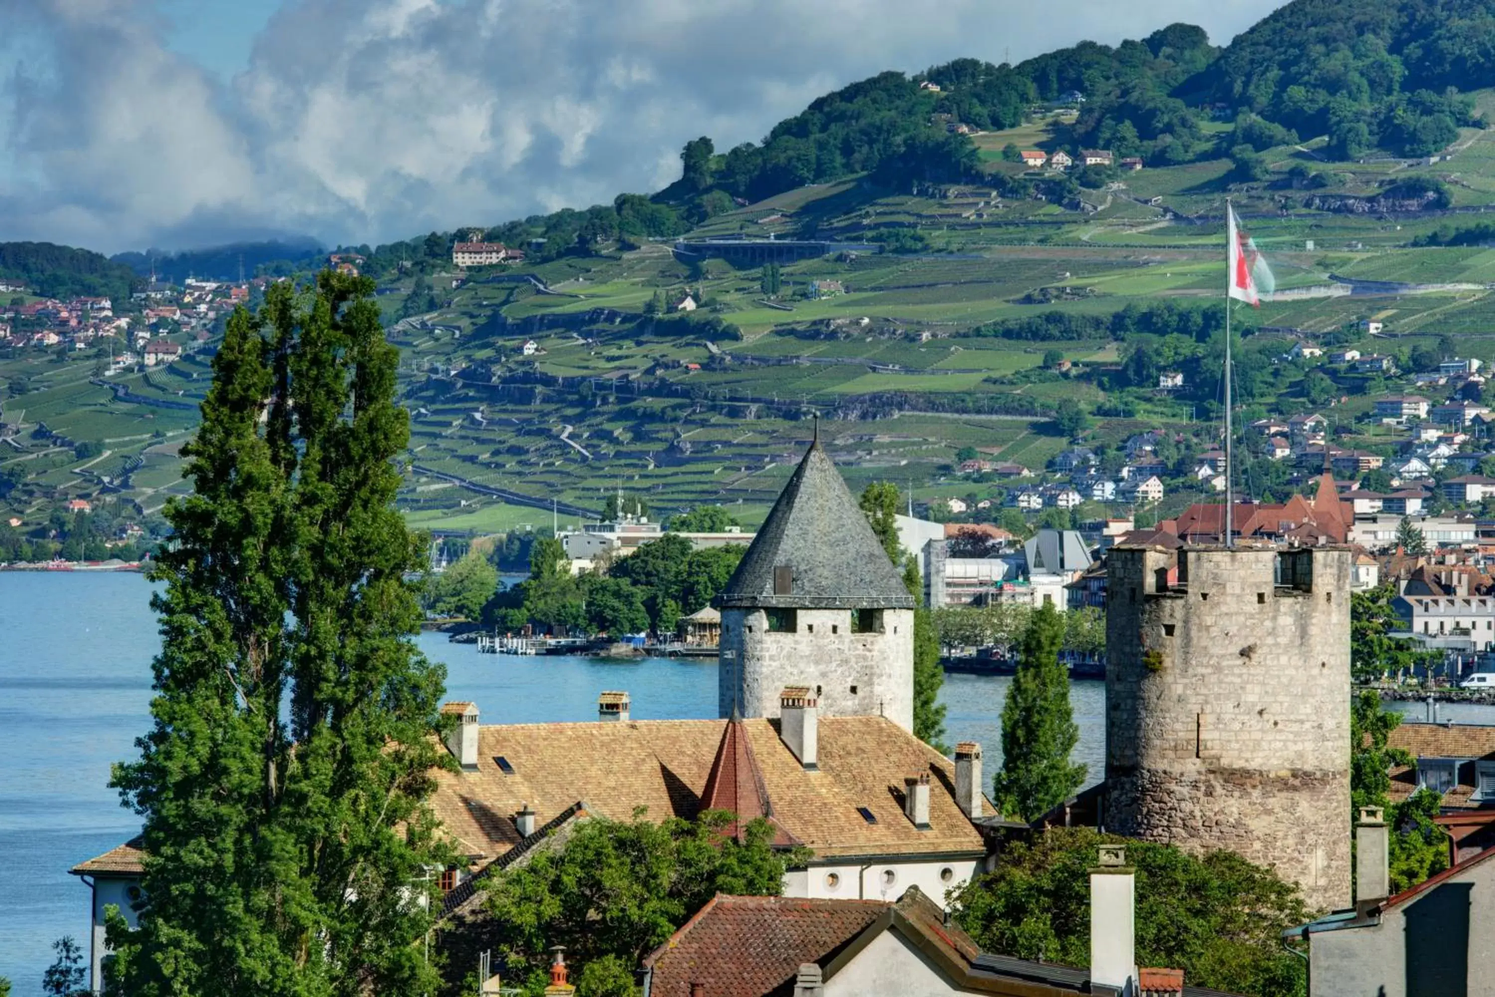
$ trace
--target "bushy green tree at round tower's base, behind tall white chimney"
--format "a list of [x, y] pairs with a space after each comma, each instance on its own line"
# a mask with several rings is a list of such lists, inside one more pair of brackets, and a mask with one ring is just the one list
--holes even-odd
[[1091, 828], [1052, 828], [1005, 846], [997, 867], [954, 897], [955, 921], [1002, 955], [1085, 966], [1090, 868], [1097, 846], [1124, 843], [1136, 868], [1136, 961], [1172, 966], [1196, 987], [1289, 997], [1307, 990], [1302, 960], [1281, 948], [1308, 919], [1298, 888], [1233, 852], [1187, 855]]

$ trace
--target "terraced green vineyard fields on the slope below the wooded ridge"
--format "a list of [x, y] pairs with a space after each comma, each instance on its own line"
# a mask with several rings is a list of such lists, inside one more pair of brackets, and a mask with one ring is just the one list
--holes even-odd
[[[1479, 100], [1495, 111], [1492, 94]], [[985, 167], [1021, 172], [1002, 149], [1051, 148], [1051, 124], [975, 136]], [[1120, 363], [1121, 344], [972, 333], [1052, 311], [1217, 302], [1226, 196], [1287, 294], [1244, 315], [1247, 329], [1275, 327], [1286, 347], [1375, 317], [1386, 323], [1383, 350], [1450, 336], [1461, 353], [1495, 354], [1495, 248], [1410, 247], [1495, 206], [1495, 132], [1465, 130], [1452, 157], [1434, 164], [1329, 163], [1322, 148], [1316, 139], [1269, 149], [1265, 182], [1235, 184], [1229, 160], [1118, 173], [1106, 190], [1082, 191], [1082, 206], [1003, 200], [982, 184], [887, 196], [851, 179], [737, 208], [691, 233], [864, 242], [913, 230], [927, 247], [785, 263], [774, 299], [761, 269], [682, 262], [665, 242], [525, 271], [543, 287], [516, 274], [437, 268], [429, 277], [449, 300], [419, 321], [395, 321], [411, 278], [392, 275], [380, 303], [402, 351], [411, 411], [401, 504], [419, 528], [501, 532], [549, 526], [552, 499], [597, 510], [623, 487], [661, 511], [722, 502], [752, 523], [809, 439], [813, 416], [854, 487], [893, 480], [916, 498], [966, 493], [973, 486], [951, 472], [963, 447], [1039, 469], [1064, 445], [1046, 414], [1064, 399], [1108, 404], [1085, 371]], [[1366, 197], [1404, 176], [1437, 176], [1455, 208], [1473, 214], [1313, 211], [1304, 206], [1310, 193], [1287, 178], [1298, 164], [1331, 178], [1314, 196]], [[1329, 296], [1334, 278], [1423, 287]], [[812, 281], [840, 290], [816, 297]], [[640, 321], [656, 293], [673, 300], [686, 288], [703, 305], [694, 318], [730, 323], [740, 339], [709, 342], [694, 326]], [[526, 341], [535, 344], [529, 356]], [[1049, 351], [1078, 374], [1042, 371]], [[0, 448], [0, 472], [19, 481], [0, 501], [12, 514], [40, 520], [61, 498], [109, 495], [151, 516], [185, 492], [178, 451], [196, 423], [190, 407], [206, 390], [209, 354], [102, 378], [108, 356], [0, 354], [0, 420], [19, 427]], [[1290, 392], [1290, 380], [1278, 383]], [[1283, 398], [1277, 411], [1301, 404]], [[1133, 393], [1129, 405], [1133, 420], [1094, 422], [1099, 439], [1184, 425], [1196, 408], [1163, 393]], [[84, 441], [100, 447], [87, 459], [76, 451]]]

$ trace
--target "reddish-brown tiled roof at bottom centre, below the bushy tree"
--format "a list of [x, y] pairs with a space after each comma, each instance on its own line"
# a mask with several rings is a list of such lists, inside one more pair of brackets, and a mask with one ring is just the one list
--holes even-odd
[[801, 900], [718, 894], [649, 954], [649, 993], [764, 997], [792, 987], [801, 963], [825, 963], [872, 927], [885, 900]]

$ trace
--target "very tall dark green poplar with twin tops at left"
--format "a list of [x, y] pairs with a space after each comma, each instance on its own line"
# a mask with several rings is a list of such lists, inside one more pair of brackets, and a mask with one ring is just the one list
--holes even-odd
[[374, 281], [324, 272], [235, 311], [173, 540], [154, 726], [115, 767], [145, 824], [114, 993], [432, 993], [447, 859], [425, 800], [444, 671], [416, 650], [423, 544], [393, 507], [408, 439]]

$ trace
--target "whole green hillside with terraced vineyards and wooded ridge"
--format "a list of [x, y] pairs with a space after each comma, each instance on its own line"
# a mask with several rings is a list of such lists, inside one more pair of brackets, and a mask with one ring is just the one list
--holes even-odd
[[[1453, 7], [1465, 10], [1440, 9]], [[1160, 425], [1208, 450], [1226, 199], [1277, 274], [1277, 299], [1235, 318], [1245, 414], [1325, 411], [1341, 445], [1390, 453], [1395, 435], [1366, 413], [1405, 377], [1281, 354], [1304, 339], [1387, 353], [1405, 372], [1441, 354], [1495, 359], [1495, 226], [1480, 227], [1495, 206], [1495, 133], [1482, 127], [1495, 94], [1444, 90], [1452, 36], [1428, 9], [1299, 0], [1223, 51], [1172, 25], [1015, 67], [882, 73], [761, 143], [688, 143], [680, 181], [658, 194], [493, 224], [486, 238], [526, 251], [517, 266], [456, 272], [465, 230], [350, 247], [402, 348], [411, 522], [549, 526], [552, 501], [595, 510], [619, 487], [659, 511], [724, 502], [753, 522], [812, 416], [854, 486], [893, 480], [919, 501], [1000, 501], [1009, 483], [958, 475], [960, 460], [1041, 471], [1076, 429], [1112, 454]], [[1489, 82], [1479, 24], [1461, 37], [1468, 79]], [[1419, 103], [1429, 87], [1437, 102]], [[1066, 103], [1070, 90], [1085, 100]], [[1320, 90], [1335, 94], [1328, 109]], [[1356, 94], [1360, 111], [1344, 103]], [[1395, 127], [1365, 112], [1393, 105]], [[1452, 132], [1417, 124], [1440, 115]], [[1350, 155], [1338, 126], [1351, 118], [1378, 148]], [[1425, 151], [1414, 135], [1441, 143]], [[1144, 167], [1058, 173], [1011, 155], [1094, 146]], [[682, 238], [858, 248], [734, 265], [676, 253]], [[700, 306], [673, 311], [686, 293]], [[1366, 320], [1384, 329], [1369, 338]], [[0, 502], [27, 522], [60, 496], [102, 493], [148, 516], [182, 489], [193, 414], [139, 399], [200, 398], [205, 354], [124, 372], [120, 387], [96, 383], [105, 359], [0, 351], [0, 422], [19, 426], [0, 450]], [[1171, 371], [1184, 386], [1159, 390]], [[39, 425], [54, 436], [30, 436]], [[96, 453], [81, 441], [108, 456], [79, 456]], [[1259, 495], [1295, 487], [1281, 465], [1250, 474]], [[1163, 511], [1200, 495], [1169, 489]], [[1079, 514], [1108, 511], [1124, 510]]]

